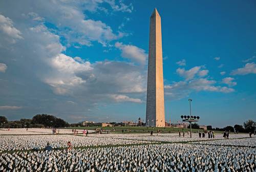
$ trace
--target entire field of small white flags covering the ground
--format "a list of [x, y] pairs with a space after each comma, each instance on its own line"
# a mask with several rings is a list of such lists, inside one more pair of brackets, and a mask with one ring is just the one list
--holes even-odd
[[[86, 137], [70, 130], [59, 135], [24, 130], [0, 136], [0, 171], [256, 171], [256, 137], [248, 134], [230, 134], [230, 139], [177, 133]], [[68, 141], [74, 148], [67, 149]], [[54, 149], [44, 150], [47, 143]]]

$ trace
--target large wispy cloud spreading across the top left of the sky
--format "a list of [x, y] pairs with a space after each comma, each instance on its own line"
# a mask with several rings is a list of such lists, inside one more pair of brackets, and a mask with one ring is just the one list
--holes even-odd
[[[122, 1], [39, 1], [35, 4], [29, 1], [16, 2], [15, 5], [12, 2], [5, 2], [5, 6], [13, 6], [12, 11], [22, 13], [25, 18], [30, 17], [33, 22], [51, 23], [54, 26], [52, 30], [65, 38], [63, 42], [66, 42], [67, 46], [92, 46], [92, 41], [106, 46], [110, 41], [123, 37], [125, 33], [114, 32], [101, 20], [94, 20], [86, 15], [88, 11], [102, 10], [102, 3], [111, 4], [114, 11], [131, 11], [131, 6], [125, 6]], [[33, 8], [31, 9], [28, 4], [33, 4]], [[16, 34], [12, 35], [20, 38], [20, 32], [14, 29]]]

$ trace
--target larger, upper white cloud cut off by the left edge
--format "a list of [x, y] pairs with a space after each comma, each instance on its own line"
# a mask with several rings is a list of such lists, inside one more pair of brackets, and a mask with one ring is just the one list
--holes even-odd
[[[22, 33], [13, 26], [13, 21], [0, 14], [0, 37], [10, 43], [15, 43], [16, 39], [23, 39]], [[0, 44], [1, 46], [1, 44]]]

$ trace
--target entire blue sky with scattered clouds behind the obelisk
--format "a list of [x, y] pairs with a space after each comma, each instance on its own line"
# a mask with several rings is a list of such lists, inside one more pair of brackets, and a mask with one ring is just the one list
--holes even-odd
[[166, 121], [256, 120], [255, 1], [0, 1], [0, 115], [144, 119], [154, 8]]

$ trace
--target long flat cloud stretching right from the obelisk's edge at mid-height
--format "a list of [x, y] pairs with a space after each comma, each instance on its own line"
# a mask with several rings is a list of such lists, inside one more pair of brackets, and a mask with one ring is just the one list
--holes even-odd
[[165, 85], [165, 95], [174, 99], [181, 99], [188, 96], [191, 92], [194, 91], [209, 91], [221, 93], [231, 93], [234, 91], [234, 89], [232, 88], [215, 85], [216, 83], [217, 82], [215, 80], [209, 80], [206, 78], [174, 82], [173, 84]]

